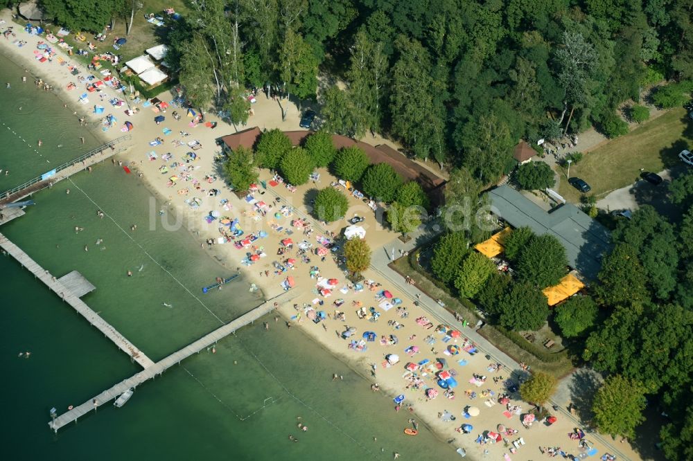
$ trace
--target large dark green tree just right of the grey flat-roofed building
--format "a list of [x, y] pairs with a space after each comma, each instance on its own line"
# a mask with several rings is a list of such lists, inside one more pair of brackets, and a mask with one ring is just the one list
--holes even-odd
[[649, 299], [644, 269], [632, 245], [616, 244], [611, 253], [602, 258], [602, 270], [597, 278], [600, 283], [595, 286], [595, 295], [603, 305]]

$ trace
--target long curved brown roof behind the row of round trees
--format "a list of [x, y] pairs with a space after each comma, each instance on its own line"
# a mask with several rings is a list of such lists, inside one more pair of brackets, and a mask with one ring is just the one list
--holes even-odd
[[[242, 132], [236, 134], [229, 134], [228, 136], [223, 136], [221, 141], [229, 147], [229, 149], [234, 150], [239, 145], [252, 149], [255, 145], [258, 136], [262, 132], [258, 127], [245, 129]], [[286, 136], [291, 140], [292, 145], [301, 145], [304, 140], [313, 134], [313, 132], [306, 130], [297, 130], [292, 132], [284, 132]], [[437, 177], [434, 173], [426, 170], [423, 166], [419, 165], [388, 145], [381, 144], [377, 147], [373, 147], [370, 144], [363, 143], [361, 141], [354, 141], [347, 136], [340, 136], [339, 134], [332, 135], [332, 143], [337, 148], [337, 150], [342, 149], [342, 147], [351, 147], [356, 145], [363, 152], [365, 152], [370, 159], [371, 163], [389, 163], [392, 168], [401, 174], [401, 176], [409, 181], [417, 181], [421, 184], [421, 187], [426, 192], [431, 192], [439, 188], [445, 183], [445, 180]], [[534, 151], [532, 151], [534, 152]]]

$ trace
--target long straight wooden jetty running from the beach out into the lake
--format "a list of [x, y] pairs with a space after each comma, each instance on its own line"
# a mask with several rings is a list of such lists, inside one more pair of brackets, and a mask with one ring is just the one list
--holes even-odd
[[207, 349], [216, 344], [217, 341], [225, 338], [229, 334], [236, 332], [236, 330], [240, 327], [253, 323], [258, 318], [269, 314], [272, 309], [274, 309], [274, 302], [289, 302], [294, 298], [294, 296], [295, 295], [291, 291], [286, 291], [276, 298], [265, 302], [263, 305], [247, 312], [247, 314], [243, 314], [242, 316], [236, 318], [236, 320], [232, 320], [213, 332], [202, 336], [202, 338], [198, 339], [197, 341], [186, 345], [186, 347], [183, 347], [181, 350], [170, 354], [166, 358], [161, 359], [151, 366], [146, 367], [144, 370], [135, 374], [134, 376], [124, 379], [112, 388], [101, 392], [93, 399], [85, 401], [85, 403], [68, 410], [66, 413], [63, 413], [60, 416], [56, 415], [53, 418], [53, 421], [49, 422], [49, 426], [57, 433], [58, 429], [62, 428], [63, 426], [67, 426], [67, 424], [70, 424], [71, 422], [76, 422], [79, 417], [86, 415], [91, 410], [96, 410], [96, 408], [99, 406], [107, 404], [113, 399], [117, 399], [119, 395], [126, 390], [137, 388], [137, 386], [139, 386], [141, 383], [148, 381], [149, 379], [153, 379], [157, 376], [157, 374], [164, 373], [164, 371], [176, 363], [180, 363], [193, 354], [199, 354], [203, 349]]

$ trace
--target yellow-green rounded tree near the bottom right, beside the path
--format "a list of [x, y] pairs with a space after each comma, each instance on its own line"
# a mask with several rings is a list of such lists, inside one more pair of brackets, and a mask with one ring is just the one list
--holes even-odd
[[644, 393], [644, 386], [638, 381], [620, 374], [606, 378], [592, 405], [597, 430], [611, 437], [635, 437], [635, 427], [644, 421]]

